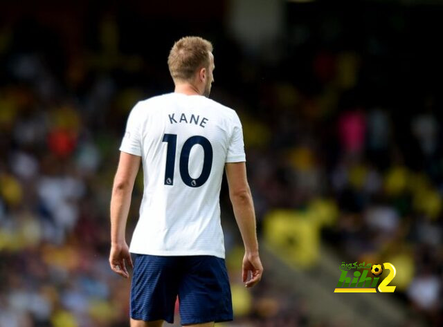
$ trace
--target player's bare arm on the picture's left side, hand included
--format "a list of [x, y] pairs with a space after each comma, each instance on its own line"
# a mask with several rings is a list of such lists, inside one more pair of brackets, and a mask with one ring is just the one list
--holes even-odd
[[128, 278], [126, 263], [132, 268], [132, 259], [126, 243], [126, 221], [131, 206], [132, 189], [140, 167], [140, 156], [120, 152], [117, 173], [114, 178], [111, 196], [111, 269]]

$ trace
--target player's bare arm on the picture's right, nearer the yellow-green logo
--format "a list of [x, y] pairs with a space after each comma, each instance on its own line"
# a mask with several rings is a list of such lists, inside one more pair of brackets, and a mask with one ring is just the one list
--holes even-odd
[[[255, 212], [251, 189], [246, 178], [245, 162], [226, 163], [230, 202], [244, 243], [243, 282], [250, 288], [262, 279], [263, 266], [258, 254]], [[251, 279], [248, 281], [248, 272]]]

